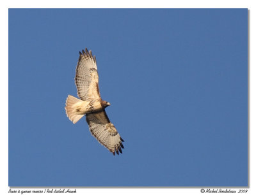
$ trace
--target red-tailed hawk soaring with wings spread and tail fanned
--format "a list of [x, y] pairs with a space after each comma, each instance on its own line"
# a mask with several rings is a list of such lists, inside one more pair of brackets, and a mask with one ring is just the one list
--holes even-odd
[[124, 141], [115, 126], [108, 119], [105, 108], [110, 105], [100, 97], [99, 92], [99, 76], [97, 71], [96, 57], [92, 55], [92, 51], [79, 52], [79, 60], [76, 67], [76, 88], [77, 96], [68, 95], [66, 100], [66, 114], [74, 124], [86, 115], [86, 121], [89, 125], [92, 135], [108, 148], [113, 155], [122, 153]]

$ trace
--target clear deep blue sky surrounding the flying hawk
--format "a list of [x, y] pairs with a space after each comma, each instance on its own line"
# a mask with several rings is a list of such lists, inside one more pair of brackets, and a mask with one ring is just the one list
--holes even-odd
[[[247, 14], [9, 10], [9, 185], [247, 185]], [[119, 156], [65, 115], [85, 47]]]

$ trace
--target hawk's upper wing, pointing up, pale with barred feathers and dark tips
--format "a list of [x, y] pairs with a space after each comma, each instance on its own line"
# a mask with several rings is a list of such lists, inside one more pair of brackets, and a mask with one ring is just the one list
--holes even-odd
[[93, 57], [92, 51], [88, 52], [87, 48], [79, 54], [75, 77], [77, 96], [82, 100], [100, 99], [96, 57]]

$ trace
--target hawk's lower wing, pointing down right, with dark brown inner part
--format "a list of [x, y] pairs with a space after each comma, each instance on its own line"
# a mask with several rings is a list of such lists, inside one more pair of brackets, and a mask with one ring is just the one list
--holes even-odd
[[[122, 153], [124, 141], [120, 134], [116, 131], [115, 126], [109, 121], [105, 110], [97, 113], [86, 114], [86, 121], [92, 135], [102, 144], [108, 148], [113, 155]], [[119, 151], [119, 152], [118, 152]]]

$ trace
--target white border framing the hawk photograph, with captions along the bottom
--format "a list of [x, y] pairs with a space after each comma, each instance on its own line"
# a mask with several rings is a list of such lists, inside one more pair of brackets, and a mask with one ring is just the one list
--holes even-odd
[[[253, 164], [255, 162], [255, 3], [253, 1], [169, 1], [157, 0], [157, 1], [99, 1], [99, 0], [80, 0], [80, 1], [1, 1], [0, 6], [0, 20], [1, 20], [1, 180], [0, 180], [0, 192], [1, 194], [10, 194], [8, 190], [8, 8], [248, 8], [250, 10], [250, 187], [246, 194], [256, 194], [255, 187], [255, 168]], [[254, 54], [254, 55], [252, 55]], [[254, 101], [253, 101], [254, 100]], [[254, 119], [254, 120], [253, 120]], [[51, 189], [52, 187], [49, 187]], [[26, 188], [22, 188], [26, 189]], [[40, 188], [36, 188], [37, 190]], [[45, 189], [45, 188], [42, 188]], [[67, 188], [66, 188], [67, 189]], [[212, 189], [212, 187], [211, 187]], [[216, 189], [216, 188], [215, 188]], [[222, 189], [226, 189], [223, 187]], [[229, 189], [229, 188], [228, 188]], [[236, 188], [236, 190], [239, 188]], [[243, 188], [241, 188], [243, 189]], [[31, 189], [33, 190], [33, 189]], [[173, 188], [77, 188], [76, 194], [201, 194], [200, 188], [195, 187], [173, 187]]]

